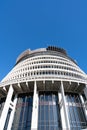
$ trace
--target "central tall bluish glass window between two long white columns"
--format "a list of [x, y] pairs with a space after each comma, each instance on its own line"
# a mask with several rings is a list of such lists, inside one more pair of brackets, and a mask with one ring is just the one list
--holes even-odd
[[39, 94], [38, 130], [61, 130], [57, 94]]

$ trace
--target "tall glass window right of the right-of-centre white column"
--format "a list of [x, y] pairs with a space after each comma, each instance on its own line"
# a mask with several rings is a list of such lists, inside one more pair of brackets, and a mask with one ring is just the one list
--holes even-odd
[[66, 100], [71, 130], [85, 129], [87, 121], [79, 95], [67, 93]]

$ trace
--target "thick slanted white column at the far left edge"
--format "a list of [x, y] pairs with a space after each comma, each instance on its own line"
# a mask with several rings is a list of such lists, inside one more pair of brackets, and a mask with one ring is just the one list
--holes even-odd
[[5, 121], [6, 121], [6, 118], [7, 118], [7, 114], [8, 114], [12, 95], [13, 95], [13, 87], [12, 87], [12, 85], [10, 85], [8, 95], [7, 95], [7, 98], [6, 98], [6, 101], [5, 101], [5, 105], [4, 105], [4, 108], [3, 108], [3, 111], [2, 111], [2, 114], [1, 114], [1, 118], [0, 118], [0, 130], [4, 129], [4, 125], [5, 125]]

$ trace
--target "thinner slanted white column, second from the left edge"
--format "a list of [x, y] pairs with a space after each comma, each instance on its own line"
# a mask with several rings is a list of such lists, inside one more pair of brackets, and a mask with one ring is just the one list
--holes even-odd
[[17, 103], [17, 95], [15, 95], [14, 101], [12, 103], [13, 103], [13, 109], [11, 111], [11, 115], [10, 115], [10, 119], [9, 119], [7, 130], [11, 130], [12, 122], [13, 122], [13, 119], [14, 119], [16, 103]]

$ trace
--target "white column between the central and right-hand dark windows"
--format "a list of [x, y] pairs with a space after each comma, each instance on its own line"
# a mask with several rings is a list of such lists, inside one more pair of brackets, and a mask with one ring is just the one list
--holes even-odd
[[61, 118], [62, 118], [62, 129], [70, 130], [69, 118], [66, 108], [66, 100], [64, 95], [63, 82], [61, 81], [61, 96], [59, 95], [59, 99], [61, 100]]

